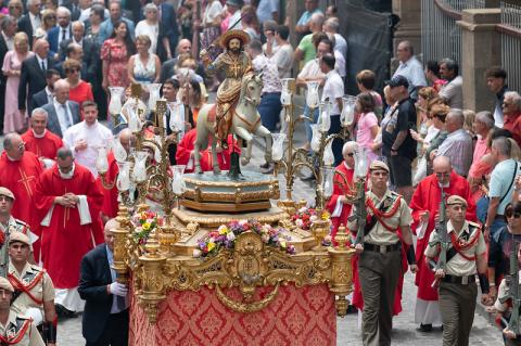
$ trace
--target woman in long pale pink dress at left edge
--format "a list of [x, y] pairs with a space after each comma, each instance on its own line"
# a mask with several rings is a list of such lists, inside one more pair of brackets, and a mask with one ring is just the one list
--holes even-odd
[[3, 118], [3, 133], [22, 133], [27, 127], [27, 115], [18, 110], [18, 86], [22, 63], [33, 56], [29, 52], [29, 40], [25, 33], [14, 35], [14, 49], [3, 59], [2, 73], [8, 77], [5, 85], [5, 113]]

